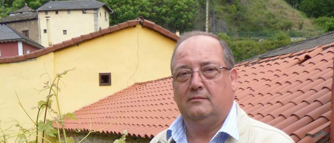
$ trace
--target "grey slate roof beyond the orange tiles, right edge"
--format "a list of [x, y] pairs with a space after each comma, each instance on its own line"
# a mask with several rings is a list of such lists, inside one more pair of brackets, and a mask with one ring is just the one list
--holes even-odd
[[273, 57], [273, 56], [278, 56], [278, 55], [283, 55], [283, 54], [288, 54], [292, 52], [299, 52], [305, 49], [310, 49], [315, 46], [319, 45], [326, 45], [334, 42], [334, 31], [316, 36], [313, 38], [309, 38], [303, 41], [291, 43], [288, 45], [281, 46], [275, 50], [268, 51], [266, 53], [257, 55], [255, 57], [243, 60], [244, 61], [251, 61], [251, 60], [256, 60], [256, 59], [263, 59], [267, 57]]

